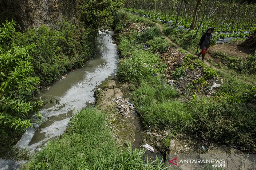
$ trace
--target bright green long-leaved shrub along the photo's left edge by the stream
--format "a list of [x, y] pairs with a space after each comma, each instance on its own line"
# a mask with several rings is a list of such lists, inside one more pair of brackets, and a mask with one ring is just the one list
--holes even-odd
[[[33, 57], [29, 51], [34, 44], [18, 47], [11, 39], [16, 33], [15, 22], [6, 21], [0, 27], [0, 145], [11, 145], [15, 135], [32, 126], [29, 113], [42, 106], [34, 99], [39, 78], [34, 76]], [[16, 130], [16, 132], [15, 132]], [[14, 131], [14, 133], [13, 133]]]

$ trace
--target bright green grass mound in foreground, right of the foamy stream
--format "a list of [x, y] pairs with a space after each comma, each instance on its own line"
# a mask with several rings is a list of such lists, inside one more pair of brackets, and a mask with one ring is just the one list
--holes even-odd
[[116, 145], [103, 113], [76, 113], [59, 139], [50, 141], [24, 169], [166, 169], [159, 159], [144, 160], [146, 150]]

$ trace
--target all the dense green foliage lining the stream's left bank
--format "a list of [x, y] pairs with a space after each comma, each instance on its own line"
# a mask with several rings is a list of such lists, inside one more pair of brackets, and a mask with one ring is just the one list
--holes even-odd
[[[47, 27], [15, 30], [15, 21], [0, 26], [0, 147], [8, 147], [39, 114], [43, 101], [36, 98], [42, 87], [63, 73], [83, 66], [94, 53], [99, 30], [110, 28], [113, 13], [123, 1], [77, 3], [76, 20], [55, 21]], [[89, 10], [88, 10], [89, 9]], [[75, 10], [75, 9], [74, 9]], [[55, 20], [55, 19], [54, 19]]]

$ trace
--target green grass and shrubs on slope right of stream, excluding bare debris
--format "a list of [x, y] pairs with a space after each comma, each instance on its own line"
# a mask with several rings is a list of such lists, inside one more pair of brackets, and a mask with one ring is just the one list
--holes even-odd
[[[126, 13], [124, 17], [123, 13], [123, 11], [117, 12], [119, 16], [123, 17], [115, 21], [117, 23], [116, 28], [120, 27], [123, 18], [137, 25], [140, 24], [139, 19], [134, 20], [137, 16]], [[253, 103], [256, 100], [256, 84], [247, 84], [243, 80], [221, 71], [217, 73], [193, 55], [187, 54], [183, 62], [174, 69], [171, 78], [177, 79], [189, 72], [193, 74], [194, 70], [201, 70], [202, 76], [187, 85], [187, 89], [189, 89], [187, 95], [191, 97], [187, 101], [181, 102], [183, 98], [188, 96], [178, 94], [174, 86], [167, 84], [166, 67], [159, 67], [161, 59], [153, 60], [159, 56], [154, 53], [150, 54], [150, 52], [158, 50], [159, 45], [155, 45], [155, 49], [143, 49], [143, 44], [148, 39], [144, 41], [140, 39], [138, 43], [136, 37], [140, 37], [145, 32], [136, 33], [136, 36], [132, 36], [135, 31], [129, 27], [129, 24], [124, 30], [129, 30], [129, 32], [118, 32], [116, 35], [119, 39], [118, 47], [123, 57], [117, 75], [120, 80], [129, 81], [132, 84], [134, 90], [132, 102], [136, 105], [145, 128], [167, 129], [171, 127], [174, 134], [188, 133], [198, 137], [204, 135], [210, 141], [236, 145], [239, 149], [251, 153], [255, 151], [256, 117]], [[192, 35], [191, 33], [191, 35], [186, 36], [191, 42], [194, 41]], [[186, 38], [183, 37], [184, 34], [172, 33], [171, 36], [180, 36], [182, 39], [180, 44], [186, 42]], [[156, 38], [160, 39], [161, 37]], [[153, 42], [153, 40], [150, 41]], [[125, 43], [129, 45], [124, 45]], [[186, 47], [187, 49], [191, 48], [188, 45], [191, 44], [190, 42], [184, 44], [187, 44], [187, 46], [184, 45], [185, 49]], [[131, 47], [131, 51], [125, 47]], [[135, 61], [140, 61], [140, 64]], [[147, 67], [144, 66], [146, 64], [143, 65], [143, 62], [146, 61], [148, 66], [151, 65], [155, 69], [153, 72], [146, 69]], [[137, 67], [139, 65], [140, 67]], [[135, 72], [139, 74], [130, 74]], [[223, 79], [223, 84], [214, 94], [210, 96], [196, 95], [195, 91], [198, 87], [209, 87], [211, 84], [208, 84], [208, 81], [216, 78]], [[198, 133], [200, 131], [203, 134]]]

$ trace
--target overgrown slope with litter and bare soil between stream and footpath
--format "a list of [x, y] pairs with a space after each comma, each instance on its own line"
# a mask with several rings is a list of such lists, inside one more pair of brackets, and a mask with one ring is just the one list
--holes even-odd
[[[143, 17], [119, 11], [117, 18], [115, 37], [121, 56], [117, 77], [129, 82], [132, 91], [129, 102], [136, 106], [144, 128], [171, 130], [160, 141], [160, 145], [168, 148], [166, 165], [174, 168], [170, 160], [189, 154], [198, 158], [207, 154], [213, 159], [217, 155], [211, 154], [240, 154], [233, 158], [244, 160], [245, 153], [254, 153], [255, 126], [247, 123], [255, 120], [252, 106], [255, 97], [246, 94], [254, 86], [216, 70], [186, 51], [191, 42], [184, 42], [182, 45], [187, 46], [183, 49], [171, 43], [161, 27]], [[170, 35], [187, 38], [178, 37], [175, 32]], [[115, 110], [121, 112], [119, 105]], [[250, 169], [254, 166], [252, 160], [250, 155], [249, 166], [245, 167], [243, 161], [232, 166]], [[198, 169], [193, 165], [178, 168]], [[212, 166], [203, 164], [200, 168], [212, 169]]]

